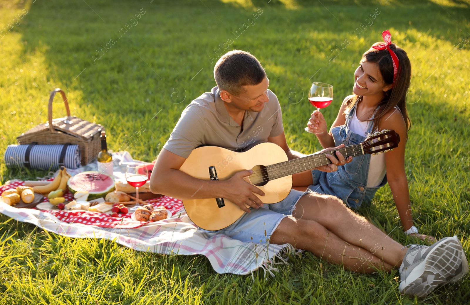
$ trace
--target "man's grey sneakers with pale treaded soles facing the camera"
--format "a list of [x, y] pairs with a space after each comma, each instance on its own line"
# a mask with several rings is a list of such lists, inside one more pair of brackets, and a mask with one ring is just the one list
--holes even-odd
[[469, 267], [462, 246], [454, 237], [445, 237], [431, 246], [411, 245], [400, 266], [401, 294], [426, 297], [447, 282], [456, 282]]

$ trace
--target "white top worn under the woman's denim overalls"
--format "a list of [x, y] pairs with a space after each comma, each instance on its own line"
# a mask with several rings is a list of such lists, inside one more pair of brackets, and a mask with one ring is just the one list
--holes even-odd
[[[399, 110], [398, 107], [395, 106], [395, 108]], [[349, 120], [348, 127], [352, 132], [357, 133], [358, 135], [367, 136], [367, 127], [369, 122], [359, 121], [356, 116], [356, 109], [354, 109], [354, 114], [352, 114], [352, 117]], [[378, 155], [371, 155], [366, 186], [379, 186], [380, 183], [382, 183], [382, 180], [384, 180], [386, 172], [387, 168], [385, 167], [385, 154], [379, 153]]]

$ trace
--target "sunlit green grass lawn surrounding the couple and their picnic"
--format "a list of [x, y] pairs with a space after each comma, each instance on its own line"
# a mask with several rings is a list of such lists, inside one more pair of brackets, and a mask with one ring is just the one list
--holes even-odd
[[[390, 29], [413, 66], [406, 170], [415, 224], [438, 238], [457, 234], [470, 252], [469, 1], [419, 0], [411, 6], [404, 0], [32, 2], [0, 2], [1, 29], [28, 10], [21, 24], [0, 36], [1, 155], [22, 132], [47, 121], [48, 92], [62, 88], [73, 115], [106, 127], [110, 149], [154, 160], [182, 109], [215, 85], [211, 58], [228, 39], [234, 42], [227, 51], [250, 51], [263, 63], [281, 102], [288, 143], [310, 153], [320, 149], [303, 131], [312, 111], [305, 97], [310, 82], [334, 85], [335, 101], [323, 111], [332, 122], [340, 100], [351, 92], [361, 54]], [[145, 14], [138, 24], [118, 39], [141, 8]], [[256, 23], [235, 39], [258, 8]], [[366, 18], [376, 9], [380, 14], [370, 24]], [[361, 23], [370, 26], [353, 38]], [[111, 38], [116, 43], [94, 63], [97, 48]], [[351, 43], [329, 63], [331, 49], [346, 38]], [[57, 97], [54, 116], [64, 113]], [[141, 136], [131, 138], [141, 127]], [[0, 165], [1, 183], [45, 174]], [[416, 242], [402, 233], [388, 187], [360, 213], [400, 243]], [[276, 277], [265, 279], [263, 271], [253, 277], [216, 274], [203, 256], [163, 256], [111, 241], [67, 238], [4, 215], [0, 236], [0, 304], [460, 304], [470, 299], [468, 278], [418, 300], [399, 296], [398, 272], [354, 274], [310, 253], [291, 258]]]

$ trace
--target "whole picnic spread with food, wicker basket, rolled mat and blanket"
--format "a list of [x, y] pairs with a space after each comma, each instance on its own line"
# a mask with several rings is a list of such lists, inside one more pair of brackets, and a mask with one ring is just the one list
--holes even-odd
[[[67, 116], [53, 119], [56, 93]], [[51, 92], [48, 106], [48, 122], [17, 137], [19, 145], [8, 145], [4, 160], [10, 168], [55, 172], [1, 185], [1, 214], [62, 236], [104, 238], [142, 252], [202, 254], [218, 273], [262, 268], [274, 276], [275, 265], [298, 253], [290, 244], [208, 236], [189, 219], [181, 200], [150, 191], [153, 163], [108, 152], [105, 128], [71, 116], [61, 89]]]

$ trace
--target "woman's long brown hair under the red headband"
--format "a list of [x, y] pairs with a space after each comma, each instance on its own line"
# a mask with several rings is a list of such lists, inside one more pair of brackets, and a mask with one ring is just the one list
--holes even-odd
[[[383, 44], [383, 42], [376, 42], [374, 46]], [[360, 62], [375, 62], [378, 67], [382, 78], [384, 79], [385, 85], [393, 84], [393, 88], [384, 92], [384, 99], [379, 103], [374, 118], [368, 121], [372, 121], [374, 128], [378, 126], [380, 119], [395, 106], [401, 111], [401, 115], [407, 125], [407, 131], [411, 127], [411, 122], [407, 112], [407, 91], [411, 81], [411, 63], [408, 59], [408, 55], [402, 48], [399, 48], [395, 44], [389, 46], [398, 57], [399, 67], [397, 73], [397, 79], [393, 83], [393, 61], [392, 56], [388, 50], [377, 50], [370, 48], [366, 53], [362, 55]], [[362, 96], [354, 96], [346, 101], [345, 114], [349, 113], [351, 108], [362, 99]]]

